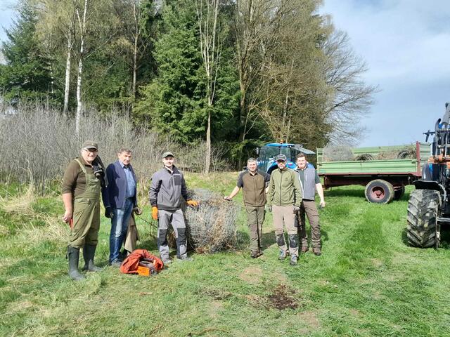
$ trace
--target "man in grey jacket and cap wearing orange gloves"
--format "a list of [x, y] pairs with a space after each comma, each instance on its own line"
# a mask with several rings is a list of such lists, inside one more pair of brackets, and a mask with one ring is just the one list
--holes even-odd
[[188, 198], [183, 173], [174, 166], [174, 154], [164, 152], [162, 163], [164, 167], [152, 176], [149, 194], [152, 217], [158, 220], [158, 249], [162, 262], [167, 265], [172, 262], [169, 258], [169, 244], [167, 242], [169, 224], [172, 224], [174, 228], [177, 258], [191, 260], [186, 253], [186, 224], [184, 223], [183, 211], [181, 211], [180, 197], [183, 197], [189, 206], [196, 207], [198, 203]]

